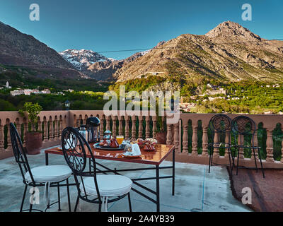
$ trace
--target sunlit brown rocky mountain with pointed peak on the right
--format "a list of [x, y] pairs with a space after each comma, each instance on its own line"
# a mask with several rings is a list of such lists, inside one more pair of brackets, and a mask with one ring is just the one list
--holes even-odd
[[267, 41], [226, 21], [206, 35], [184, 34], [117, 70], [117, 81], [141, 76], [205, 77], [220, 81], [283, 81], [283, 42]]

